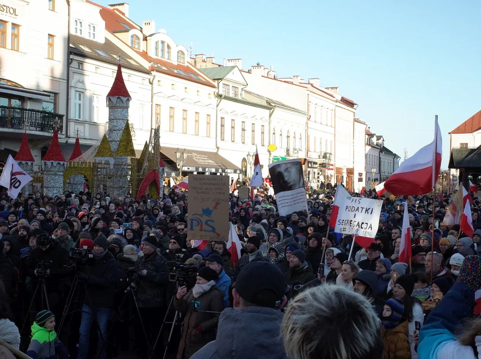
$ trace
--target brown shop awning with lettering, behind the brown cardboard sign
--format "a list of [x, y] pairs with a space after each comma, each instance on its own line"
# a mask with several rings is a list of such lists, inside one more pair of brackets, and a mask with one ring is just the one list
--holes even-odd
[[[160, 151], [172, 161], [176, 162], [176, 148], [162, 147]], [[179, 149], [184, 152], [184, 149]], [[212, 172], [212, 173], [228, 173], [241, 174], [242, 170], [217, 152], [185, 150], [187, 159], [182, 163], [183, 172]]]

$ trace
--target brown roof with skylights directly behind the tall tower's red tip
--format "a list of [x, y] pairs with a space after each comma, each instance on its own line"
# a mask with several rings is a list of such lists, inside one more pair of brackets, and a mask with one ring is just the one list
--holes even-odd
[[72, 34], [70, 35], [70, 53], [112, 65], [119, 63], [118, 55], [120, 54], [123, 68], [146, 74], [150, 73], [148, 69], [132, 59], [131, 56], [107, 38], [105, 38], [104, 43], [100, 43]]

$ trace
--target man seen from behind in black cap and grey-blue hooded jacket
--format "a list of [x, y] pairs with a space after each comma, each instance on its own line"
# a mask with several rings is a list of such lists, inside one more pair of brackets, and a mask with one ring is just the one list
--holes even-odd
[[[224, 309], [219, 317], [217, 339], [191, 359], [287, 359], [279, 335], [280, 309], [287, 302], [284, 292], [284, 276], [274, 264], [262, 261], [245, 265], [232, 291], [234, 309]], [[269, 333], [268, 338], [265, 333]]]

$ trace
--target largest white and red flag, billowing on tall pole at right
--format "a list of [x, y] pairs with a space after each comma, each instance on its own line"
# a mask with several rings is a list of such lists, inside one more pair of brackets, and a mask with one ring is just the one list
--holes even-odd
[[405, 160], [386, 180], [384, 187], [394, 195], [419, 195], [433, 190], [441, 169], [442, 139], [438, 117], [434, 140]]

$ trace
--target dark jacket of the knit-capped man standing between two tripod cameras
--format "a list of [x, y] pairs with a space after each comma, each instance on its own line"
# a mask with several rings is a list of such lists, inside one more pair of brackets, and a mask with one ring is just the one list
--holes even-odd
[[169, 267], [166, 259], [158, 252], [139, 257], [137, 269], [147, 270], [147, 275], [140, 276], [135, 295], [137, 304], [144, 308], [160, 308], [165, 305], [165, 290], [169, 284]]

